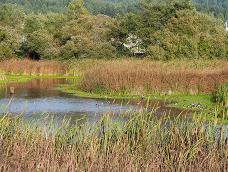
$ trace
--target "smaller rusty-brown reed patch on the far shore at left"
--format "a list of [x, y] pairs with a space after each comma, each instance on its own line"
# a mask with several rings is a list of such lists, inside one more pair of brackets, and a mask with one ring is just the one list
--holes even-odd
[[0, 70], [14, 74], [59, 75], [65, 74], [65, 66], [58, 61], [33, 61], [29, 59], [10, 59], [0, 63]]

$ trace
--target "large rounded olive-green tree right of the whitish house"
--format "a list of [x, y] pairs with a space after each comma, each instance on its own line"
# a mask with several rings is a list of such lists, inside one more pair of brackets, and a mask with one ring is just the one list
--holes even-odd
[[151, 37], [153, 46], [165, 51], [165, 59], [227, 57], [227, 38], [222, 22], [192, 10], [178, 11]]

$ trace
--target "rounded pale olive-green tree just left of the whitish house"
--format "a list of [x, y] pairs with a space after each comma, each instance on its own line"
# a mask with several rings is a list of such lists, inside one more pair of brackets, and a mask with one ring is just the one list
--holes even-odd
[[110, 58], [115, 48], [109, 43], [113, 19], [107, 16], [82, 16], [70, 20], [61, 31], [61, 58]]

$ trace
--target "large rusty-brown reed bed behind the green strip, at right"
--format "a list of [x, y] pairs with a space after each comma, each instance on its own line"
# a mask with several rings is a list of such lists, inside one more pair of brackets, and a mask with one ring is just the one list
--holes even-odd
[[215, 86], [228, 81], [228, 61], [149, 61], [113, 60], [94, 63], [86, 70], [84, 91], [128, 90], [211, 93]]

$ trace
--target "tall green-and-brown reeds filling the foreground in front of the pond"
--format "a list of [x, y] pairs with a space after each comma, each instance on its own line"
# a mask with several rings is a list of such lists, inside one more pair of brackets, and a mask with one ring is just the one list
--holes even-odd
[[138, 112], [120, 123], [105, 114], [94, 125], [63, 122], [45, 134], [5, 116], [0, 120], [0, 170], [227, 171], [225, 130], [199, 119], [187, 121]]

